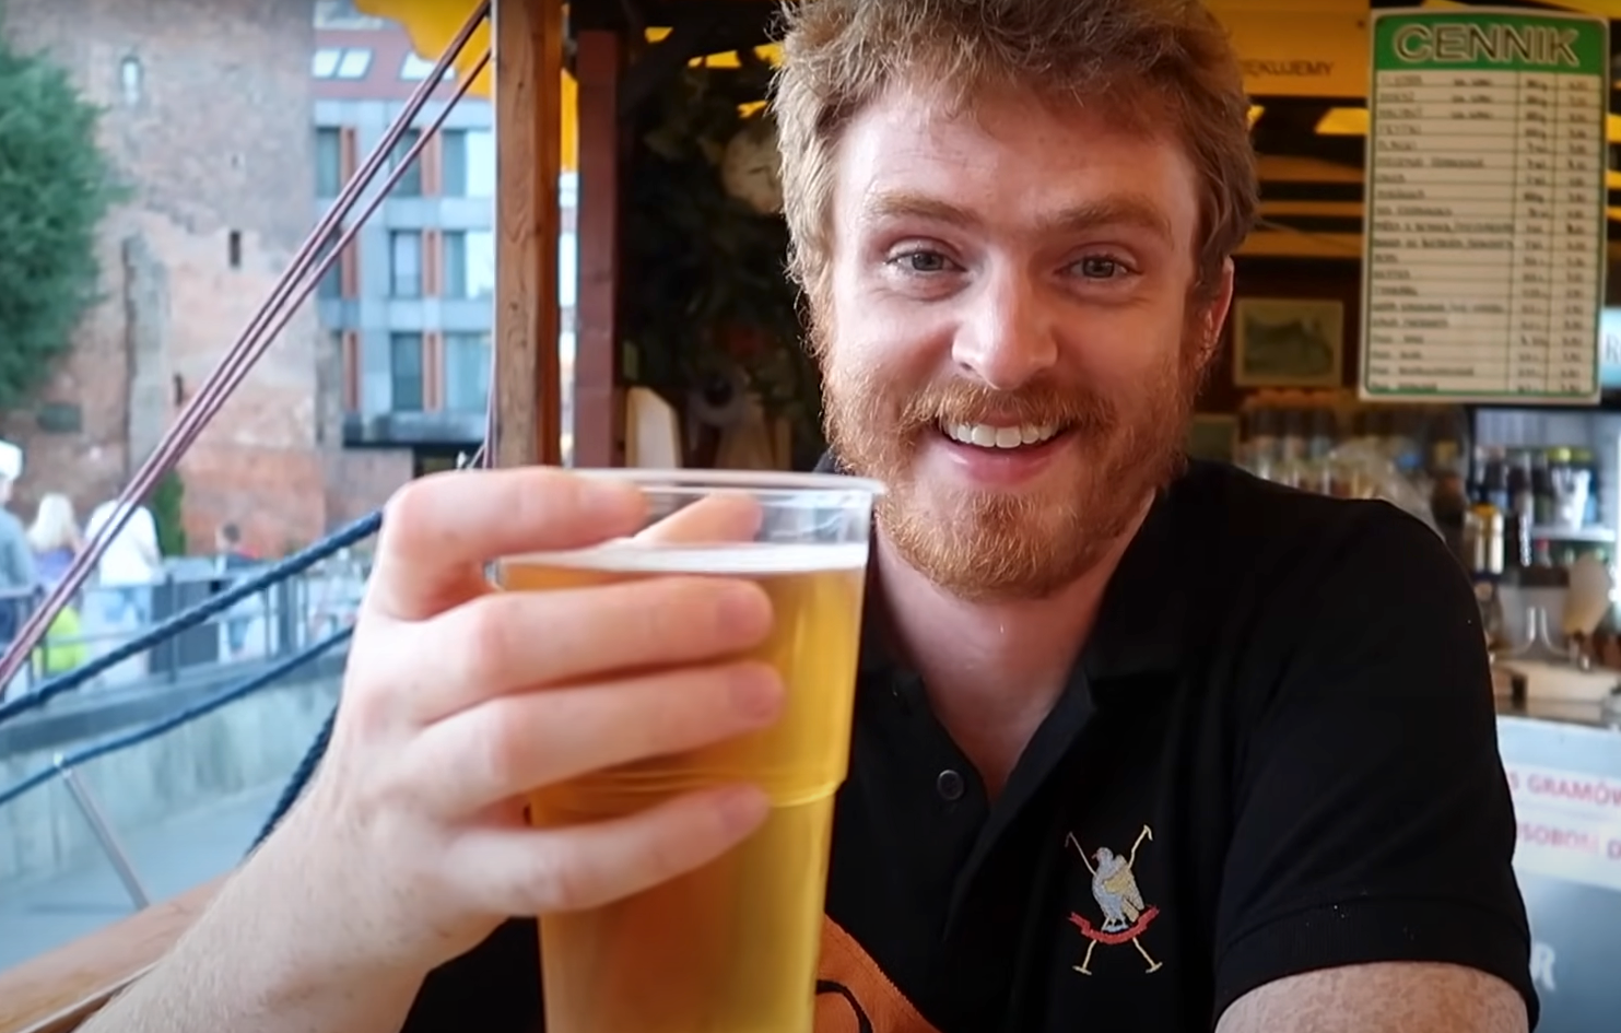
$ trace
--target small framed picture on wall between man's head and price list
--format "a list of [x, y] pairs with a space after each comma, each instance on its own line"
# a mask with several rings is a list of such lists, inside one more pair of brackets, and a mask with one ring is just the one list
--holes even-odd
[[1232, 383], [1238, 388], [1337, 388], [1345, 306], [1319, 298], [1232, 303]]

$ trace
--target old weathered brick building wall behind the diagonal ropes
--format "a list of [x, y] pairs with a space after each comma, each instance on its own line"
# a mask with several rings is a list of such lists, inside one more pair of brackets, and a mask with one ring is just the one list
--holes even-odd
[[[79, 405], [81, 430], [3, 425], [29, 452], [19, 508], [65, 490], [88, 511], [201, 388], [313, 224], [311, 0], [8, 0], [5, 28], [105, 109], [104, 144], [135, 191], [105, 227], [107, 300], [42, 394]], [[225, 519], [266, 551], [327, 529], [342, 464], [326, 347], [305, 306], [193, 446], [193, 542]]]

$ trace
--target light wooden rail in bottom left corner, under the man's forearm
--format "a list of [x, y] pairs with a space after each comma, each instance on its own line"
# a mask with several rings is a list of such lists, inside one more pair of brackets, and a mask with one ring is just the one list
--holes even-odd
[[157, 963], [224, 877], [0, 971], [0, 1033], [66, 1033]]

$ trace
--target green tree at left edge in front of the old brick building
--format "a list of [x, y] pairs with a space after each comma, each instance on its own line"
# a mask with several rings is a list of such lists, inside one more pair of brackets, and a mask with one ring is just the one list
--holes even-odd
[[28, 404], [99, 297], [96, 234], [120, 199], [101, 110], [0, 10], [0, 412]]

